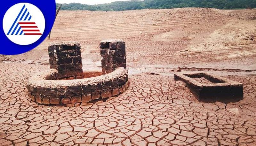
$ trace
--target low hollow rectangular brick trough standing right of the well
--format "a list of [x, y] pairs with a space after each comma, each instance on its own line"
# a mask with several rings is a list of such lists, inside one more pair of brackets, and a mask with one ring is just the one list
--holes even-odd
[[[211, 83], [201, 83], [193, 78], [204, 77]], [[200, 102], [236, 102], [243, 99], [243, 84], [210, 73], [174, 74], [175, 81], [186, 83]]]

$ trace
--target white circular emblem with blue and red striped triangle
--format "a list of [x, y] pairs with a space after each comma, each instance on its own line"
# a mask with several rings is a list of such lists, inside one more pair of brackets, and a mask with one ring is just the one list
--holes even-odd
[[36, 42], [44, 33], [44, 28], [44, 15], [33, 4], [15, 4], [4, 15], [4, 33], [9, 40], [19, 45]]

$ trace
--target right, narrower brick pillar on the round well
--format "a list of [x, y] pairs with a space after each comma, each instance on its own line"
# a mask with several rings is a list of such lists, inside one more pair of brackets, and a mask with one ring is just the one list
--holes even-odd
[[102, 40], [100, 55], [103, 74], [111, 73], [117, 67], [126, 69], [125, 42], [123, 40]]

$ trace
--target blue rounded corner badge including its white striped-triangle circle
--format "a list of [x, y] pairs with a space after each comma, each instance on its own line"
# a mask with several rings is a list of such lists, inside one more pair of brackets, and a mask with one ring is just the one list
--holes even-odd
[[16, 55], [36, 48], [50, 33], [55, 19], [55, 0], [2, 2], [0, 54]]

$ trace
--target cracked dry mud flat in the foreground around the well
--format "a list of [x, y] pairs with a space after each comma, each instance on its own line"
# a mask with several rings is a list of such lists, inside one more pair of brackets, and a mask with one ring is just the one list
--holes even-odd
[[237, 103], [199, 103], [173, 76], [141, 73], [106, 102], [61, 107], [27, 95], [25, 81], [46, 65], [0, 65], [1, 145], [256, 145], [256, 76], [228, 76], [244, 83]]

